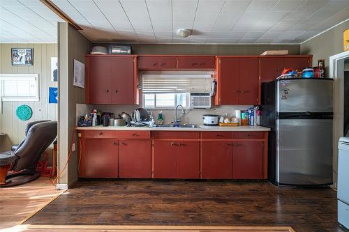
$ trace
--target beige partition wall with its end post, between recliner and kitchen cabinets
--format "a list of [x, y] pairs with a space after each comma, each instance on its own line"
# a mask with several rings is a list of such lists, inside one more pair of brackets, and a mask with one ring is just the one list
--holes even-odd
[[[76, 104], [84, 103], [84, 88], [73, 86], [74, 59], [85, 63], [84, 56], [89, 53], [91, 42], [87, 40], [73, 26], [65, 22], [59, 23], [59, 169], [63, 169], [67, 162], [72, 145], [74, 132]], [[77, 139], [75, 137], [75, 144]], [[68, 175], [67, 175], [68, 173]], [[72, 153], [66, 169], [59, 179], [59, 183], [75, 183], [77, 180], [77, 152]]]

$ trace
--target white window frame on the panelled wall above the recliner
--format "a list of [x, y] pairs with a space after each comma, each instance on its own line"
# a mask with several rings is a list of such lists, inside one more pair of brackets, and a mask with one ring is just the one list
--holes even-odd
[[[31, 78], [35, 79], [36, 83], [36, 90], [35, 90], [35, 96], [4, 96], [3, 95], [3, 82], [6, 80], [16, 80], [19, 78]], [[31, 73], [31, 74], [0, 74], [0, 101], [1, 102], [38, 102], [40, 101], [40, 85], [39, 85], [39, 75], [37, 73]]]

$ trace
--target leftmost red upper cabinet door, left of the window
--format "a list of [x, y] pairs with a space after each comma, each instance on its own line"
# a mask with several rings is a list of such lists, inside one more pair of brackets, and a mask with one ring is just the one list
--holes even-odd
[[89, 104], [108, 104], [111, 100], [112, 59], [89, 57], [87, 76], [89, 82]]

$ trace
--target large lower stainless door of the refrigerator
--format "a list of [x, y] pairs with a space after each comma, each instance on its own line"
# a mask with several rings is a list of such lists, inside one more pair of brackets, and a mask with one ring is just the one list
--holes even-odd
[[332, 184], [332, 119], [280, 119], [276, 126], [277, 182]]

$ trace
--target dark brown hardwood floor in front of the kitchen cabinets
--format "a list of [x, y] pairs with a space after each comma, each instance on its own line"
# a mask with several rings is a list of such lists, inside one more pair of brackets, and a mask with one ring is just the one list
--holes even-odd
[[24, 224], [292, 226], [344, 231], [329, 187], [263, 182], [81, 180]]

